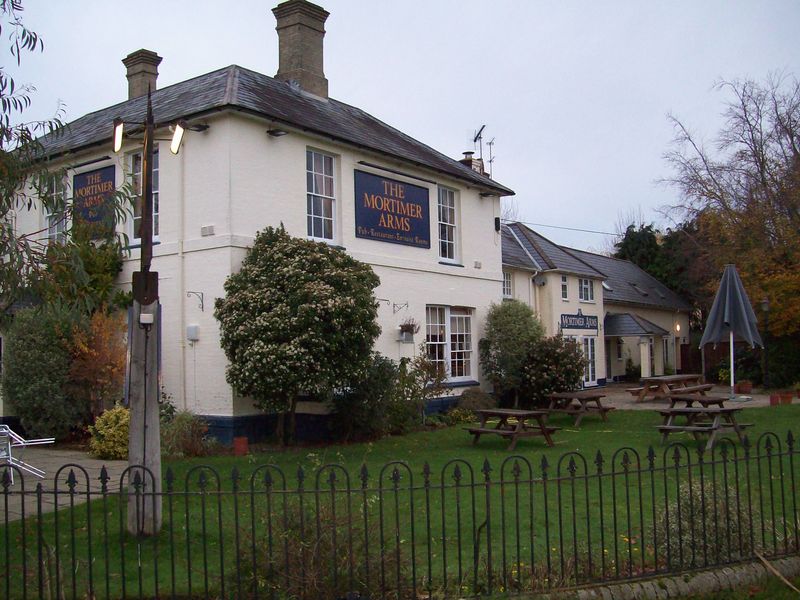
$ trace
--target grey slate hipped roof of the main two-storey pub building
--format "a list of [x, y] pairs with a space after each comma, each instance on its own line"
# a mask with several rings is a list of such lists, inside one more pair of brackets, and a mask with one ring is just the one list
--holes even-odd
[[[361, 109], [333, 98], [310, 96], [284, 81], [237, 65], [156, 90], [152, 102], [159, 123], [222, 110], [243, 111], [427, 167], [500, 196], [514, 194]], [[60, 135], [43, 138], [44, 150], [54, 156], [98, 144], [110, 145], [114, 118], [143, 122], [146, 108], [146, 97], [140, 97], [89, 113], [67, 124]]]

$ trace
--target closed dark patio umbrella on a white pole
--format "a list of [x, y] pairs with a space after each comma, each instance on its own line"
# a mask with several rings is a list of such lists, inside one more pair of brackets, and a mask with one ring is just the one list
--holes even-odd
[[735, 339], [744, 340], [751, 347], [756, 344], [764, 347], [761, 336], [758, 333], [758, 322], [750, 299], [744, 290], [742, 280], [734, 265], [725, 265], [722, 279], [719, 282], [719, 289], [708, 314], [706, 328], [700, 340], [700, 348], [706, 344], [722, 342], [728, 340], [730, 343], [731, 356], [731, 398], [733, 397], [733, 341]]

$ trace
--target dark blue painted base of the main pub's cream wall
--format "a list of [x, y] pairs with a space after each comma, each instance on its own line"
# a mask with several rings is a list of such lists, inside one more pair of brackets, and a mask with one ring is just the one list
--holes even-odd
[[[443, 413], [455, 406], [457, 397], [434, 398], [425, 407], [425, 414]], [[275, 434], [278, 415], [246, 415], [239, 417], [220, 417], [199, 415], [208, 423], [208, 434], [221, 444], [233, 445], [233, 438], [247, 437], [252, 443], [263, 442]], [[295, 421], [295, 438], [299, 442], [331, 442], [329, 415], [298, 414]]]

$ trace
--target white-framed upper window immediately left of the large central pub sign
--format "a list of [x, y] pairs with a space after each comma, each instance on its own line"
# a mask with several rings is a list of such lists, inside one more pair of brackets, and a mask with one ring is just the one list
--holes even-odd
[[335, 232], [333, 156], [306, 150], [306, 222], [308, 237], [333, 241]]

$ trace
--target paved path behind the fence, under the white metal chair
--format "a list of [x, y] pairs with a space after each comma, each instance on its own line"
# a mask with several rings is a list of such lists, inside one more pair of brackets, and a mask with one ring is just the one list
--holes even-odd
[[[14, 456], [20, 460], [25, 461], [33, 466], [43, 469], [46, 473], [44, 479], [39, 479], [33, 475], [26, 475], [24, 478], [25, 483], [25, 496], [24, 496], [24, 514], [26, 517], [36, 514], [36, 484], [41, 483], [42, 489], [45, 493], [42, 494], [42, 512], [51, 512], [56, 506], [56, 498], [53, 491], [56, 489], [55, 476], [58, 473], [58, 506], [65, 507], [70, 504], [69, 487], [67, 486], [67, 477], [69, 476], [70, 468], [63, 468], [64, 465], [80, 465], [86, 470], [86, 475], [83, 474], [81, 469], [75, 468], [75, 477], [77, 485], [75, 487], [75, 503], [82, 503], [86, 501], [86, 486], [87, 478], [91, 494], [99, 494], [101, 489], [100, 484], [100, 469], [105, 466], [110, 480], [108, 482], [108, 491], [113, 493], [119, 490], [119, 478], [122, 472], [127, 468], [128, 462], [124, 460], [97, 460], [90, 457], [86, 452], [80, 450], [59, 450], [58, 448], [48, 447], [31, 447], [22, 450], [21, 452], [15, 449]], [[19, 478], [19, 473], [14, 473], [14, 484], [9, 487], [8, 494], [8, 520], [16, 521], [23, 515], [23, 496], [22, 482]], [[0, 523], [5, 519], [5, 509], [3, 497], [3, 490], [0, 489]]]

